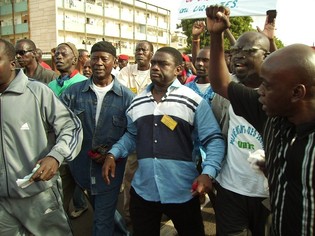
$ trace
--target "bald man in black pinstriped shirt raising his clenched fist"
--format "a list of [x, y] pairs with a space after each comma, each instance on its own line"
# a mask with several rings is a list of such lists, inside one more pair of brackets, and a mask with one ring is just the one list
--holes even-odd
[[213, 89], [263, 137], [266, 160], [259, 167], [270, 187], [269, 234], [314, 235], [315, 53], [303, 44], [279, 49], [262, 63], [258, 90], [240, 86], [230, 80], [223, 60], [222, 32], [229, 27], [229, 9], [210, 6], [206, 13], [215, 58], [209, 63]]

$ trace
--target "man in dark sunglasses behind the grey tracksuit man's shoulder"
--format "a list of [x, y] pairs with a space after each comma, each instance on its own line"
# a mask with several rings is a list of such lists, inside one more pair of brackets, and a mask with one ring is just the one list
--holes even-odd
[[24, 68], [24, 73], [32, 79], [45, 84], [58, 77], [57, 73], [45, 69], [36, 60], [36, 46], [30, 39], [21, 39], [15, 44], [16, 59], [19, 65]]

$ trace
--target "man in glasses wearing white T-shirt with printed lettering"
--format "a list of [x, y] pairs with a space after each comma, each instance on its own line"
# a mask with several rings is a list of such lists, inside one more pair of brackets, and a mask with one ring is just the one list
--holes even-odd
[[[267, 32], [267, 28], [271, 31]], [[265, 24], [263, 33], [245, 32], [237, 39], [229, 49], [232, 80], [246, 87], [259, 87], [260, 68], [273, 37], [274, 27]], [[209, 70], [210, 78], [213, 71], [210, 67]], [[215, 185], [217, 235], [264, 236], [269, 216], [269, 210], [262, 204], [269, 196], [267, 179], [247, 160], [253, 158], [251, 153], [264, 152], [262, 137], [249, 122], [235, 114], [223, 97], [217, 94], [211, 104], [227, 141], [226, 158]]]

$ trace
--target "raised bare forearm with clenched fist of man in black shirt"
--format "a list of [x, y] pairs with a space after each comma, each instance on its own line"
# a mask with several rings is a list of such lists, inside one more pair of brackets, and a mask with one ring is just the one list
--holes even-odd
[[228, 8], [210, 6], [206, 9], [207, 29], [210, 33], [209, 78], [213, 90], [228, 99], [230, 73], [224, 57], [224, 31], [230, 27]]

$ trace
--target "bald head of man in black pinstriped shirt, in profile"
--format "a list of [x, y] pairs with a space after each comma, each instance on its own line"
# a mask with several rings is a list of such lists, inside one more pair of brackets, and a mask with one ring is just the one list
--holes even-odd
[[268, 116], [294, 124], [315, 120], [315, 51], [293, 44], [270, 54], [261, 67], [260, 102]]

